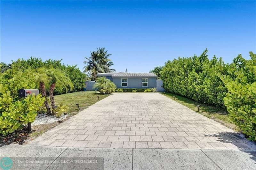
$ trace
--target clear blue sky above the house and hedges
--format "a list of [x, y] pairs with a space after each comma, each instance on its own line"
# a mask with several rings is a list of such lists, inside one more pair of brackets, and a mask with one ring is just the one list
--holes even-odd
[[105, 47], [117, 71], [148, 72], [208, 48], [256, 53], [256, 1], [1, 1], [1, 62], [63, 59], [82, 70]]

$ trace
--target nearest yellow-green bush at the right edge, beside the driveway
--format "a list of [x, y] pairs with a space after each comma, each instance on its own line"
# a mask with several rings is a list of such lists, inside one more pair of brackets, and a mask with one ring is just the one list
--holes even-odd
[[224, 98], [229, 115], [250, 140], [256, 141], [256, 55], [238, 55], [222, 80], [228, 88]]

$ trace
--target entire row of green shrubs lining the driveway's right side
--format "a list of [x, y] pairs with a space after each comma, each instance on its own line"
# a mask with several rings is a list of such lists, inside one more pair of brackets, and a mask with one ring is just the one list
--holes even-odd
[[256, 56], [238, 55], [225, 64], [207, 49], [200, 56], [179, 57], [165, 63], [161, 71], [166, 91], [198, 102], [227, 108], [229, 115], [251, 140], [256, 140]]

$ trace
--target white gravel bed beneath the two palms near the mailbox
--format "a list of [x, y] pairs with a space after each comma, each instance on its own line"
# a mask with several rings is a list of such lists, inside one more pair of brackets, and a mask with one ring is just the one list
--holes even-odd
[[61, 115], [60, 118], [57, 118], [56, 116], [52, 116], [52, 115], [46, 115], [47, 113], [43, 113], [43, 114], [37, 114], [36, 115], [36, 119], [33, 123], [31, 123], [31, 125], [39, 125], [39, 124], [48, 124], [48, 123], [53, 123], [53, 122], [58, 122], [60, 120], [65, 119], [67, 115]]

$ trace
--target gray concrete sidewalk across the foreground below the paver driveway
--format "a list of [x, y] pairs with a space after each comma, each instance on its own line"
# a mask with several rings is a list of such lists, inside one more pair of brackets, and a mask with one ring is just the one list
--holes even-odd
[[[104, 169], [204, 169], [241, 170], [256, 169], [255, 150], [203, 150], [203, 149], [124, 149], [76, 148], [36, 145], [8, 145], [0, 149], [0, 157], [103, 157]], [[60, 169], [45, 166], [15, 167], [12, 169]], [[75, 168], [66, 164], [65, 169]], [[63, 169], [63, 168], [61, 168]], [[102, 167], [93, 166], [93, 169]]]

